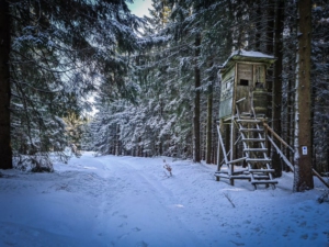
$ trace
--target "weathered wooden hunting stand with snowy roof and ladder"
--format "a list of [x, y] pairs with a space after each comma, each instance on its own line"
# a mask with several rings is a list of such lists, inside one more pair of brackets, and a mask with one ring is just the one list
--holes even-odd
[[273, 56], [258, 52], [235, 52], [220, 68], [218, 158], [216, 180], [247, 179], [257, 184], [272, 186], [271, 159], [268, 157], [266, 70]]

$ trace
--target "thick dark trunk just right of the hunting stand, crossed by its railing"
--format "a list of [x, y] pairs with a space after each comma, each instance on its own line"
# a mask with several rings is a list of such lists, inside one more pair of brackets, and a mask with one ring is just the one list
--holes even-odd
[[[274, 64], [274, 81], [272, 83], [272, 127], [279, 136], [281, 136], [281, 112], [282, 112], [282, 59], [283, 59], [283, 20], [284, 20], [284, 0], [276, 2], [276, 12], [275, 12], [275, 25], [274, 25], [274, 57], [276, 61]], [[277, 147], [281, 146], [281, 143], [274, 138], [274, 142]], [[274, 177], [282, 176], [281, 158], [279, 154], [272, 148], [272, 166], [275, 170]]]

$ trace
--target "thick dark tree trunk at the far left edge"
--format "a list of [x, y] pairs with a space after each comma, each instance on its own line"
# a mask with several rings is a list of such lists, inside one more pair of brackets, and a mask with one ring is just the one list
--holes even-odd
[[0, 168], [12, 168], [10, 143], [10, 15], [9, 3], [0, 1]]

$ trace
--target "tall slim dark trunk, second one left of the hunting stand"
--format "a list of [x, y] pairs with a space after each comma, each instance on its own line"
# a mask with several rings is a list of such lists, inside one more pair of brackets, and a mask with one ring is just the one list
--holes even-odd
[[193, 161], [201, 161], [201, 151], [200, 151], [200, 86], [201, 86], [201, 76], [198, 68], [198, 56], [200, 56], [200, 45], [201, 45], [201, 34], [196, 34], [195, 37], [195, 54], [194, 54], [194, 116], [193, 116], [193, 130], [194, 130], [194, 142], [193, 142]]

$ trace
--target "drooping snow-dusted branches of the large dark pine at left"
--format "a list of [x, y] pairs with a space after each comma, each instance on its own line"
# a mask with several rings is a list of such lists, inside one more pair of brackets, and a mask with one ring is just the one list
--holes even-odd
[[[4, 53], [1, 59], [11, 65], [13, 98], [12, 141], [0, 139], [1, 154], [9, 156], [10, 151], [2, 153], [9, 143], [15, 155], [63, 149], [67, 133], [61, 119], [68, 112], [81, 114], [88, 108], [88, 93], [99, 85], [107, 83], [115, 93], [132, 97], [132, 88], [113, 71], [126, 71], [126, 55], [138, 46], [134, 30], [141, 21], [129, 13], [124, 1], [24, 0], [9, 1], [10, 8], [3, 4], [1, 18], [7, 20], [1, 22], [3, 30], [10, 29], [12, 46], [7, 46], [11, 59]], [[2, 76], [9, 75], [1, 71]], [[1, 82], [3, 90], [10, 90], [7, 86]], [[1, 108], [8, 109], [9, 102], [1, 102]], [[9, 122], [8, 117], [3, 120]], [[4, 126], [1, 124], [0, 133], [9, 136]], [[43, 162], [36, 156], [31, 158]], [[49, 164], [47, 155], [44, 162]], [[1, 162], [3, 168], [11, 166], [11, 160]]]

